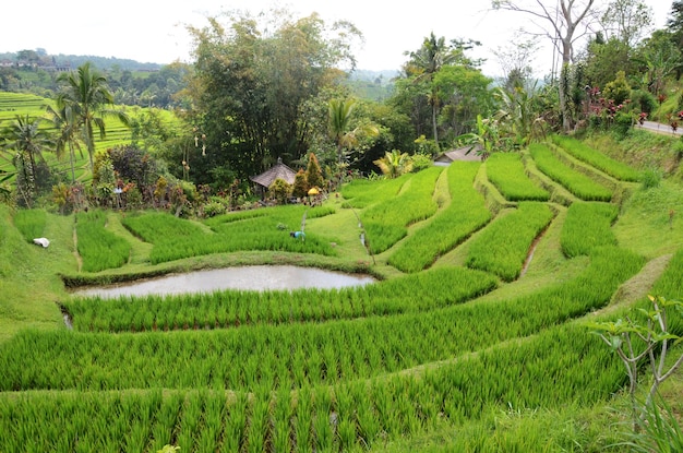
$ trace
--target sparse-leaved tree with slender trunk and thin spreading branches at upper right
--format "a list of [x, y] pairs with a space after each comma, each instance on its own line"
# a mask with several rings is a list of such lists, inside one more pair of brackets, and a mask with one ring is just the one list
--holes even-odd
[[[596, 0], [492, 0], [494, 10], [507, 10], [528, 14], [546, 26], [537, 24], [541, 34], [551, 39], [562, 56], [562, 65], [574, 62], [574, 43], [585, 35], [587, 22]], [[560, 81], [560, 111], [564, 130], [571, 129], [566, 83]]]

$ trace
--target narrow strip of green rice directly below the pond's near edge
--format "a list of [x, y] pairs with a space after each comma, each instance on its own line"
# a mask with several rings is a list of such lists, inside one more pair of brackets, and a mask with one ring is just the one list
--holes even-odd
[[[358, 288], [224, 290], [109, 300], [88, 297], [64, 301], [63, 306], [71, 313], [74, 329], [84, 332], [230, 329], [428, 311], [474, 299], [494, 289], [495, 284], [495, 278], [486, 273], [452, 267]], [[422, 297], [430, 291], [430, 297]]]

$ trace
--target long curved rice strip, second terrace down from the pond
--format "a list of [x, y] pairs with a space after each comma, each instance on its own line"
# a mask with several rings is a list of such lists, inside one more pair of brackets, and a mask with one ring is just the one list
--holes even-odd
[[[564, 323], [607, 305], [642, 265], [643, 259], [632, 252], [597, 248], [579, 276], [529, 296], [355, 321], [165, 334], [24, 331], [0, 345], [0, 390], [253, 390], [263, 384], [317, 385], [337, 382], [339, 375], [345, 381], [363, 379]], [[421, 298], [453, 286], [441, 278]], [[178, 311], [192, 313], [192, 308], [180, 306]], [[335, 374], [322, 360], [327, 349], [337, 363], [346, 363]]]

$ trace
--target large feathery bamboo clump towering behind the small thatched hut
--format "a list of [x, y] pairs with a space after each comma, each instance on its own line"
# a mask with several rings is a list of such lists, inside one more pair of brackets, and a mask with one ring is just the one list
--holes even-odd
[[208, 21], [190, 28], [196, 63], [188, 93], [207, 140], [197, 178], [229, 167], [247, 179], [277, 157], [304, 156], [311, 128], [302, 106], [336, 83], [336, 67], [354, 67], [349, 45], [360, 33], [347, 22], [329, 26], [316, 14], [293, 20], [283, 10], [260, 19], [235, 13], [227, 27]]

